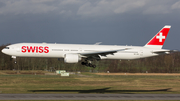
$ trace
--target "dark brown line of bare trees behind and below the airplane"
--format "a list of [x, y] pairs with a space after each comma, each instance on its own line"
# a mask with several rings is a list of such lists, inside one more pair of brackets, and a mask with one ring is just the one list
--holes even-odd
[[[1, 45], [2, 50], [6, 45]], [[67, 71], [98, 71], [98, 72], [126, 72], [126, 73], [179, 73], [180, 52], [157, 57], [149, 57], [137, 60], [100, 60], [93, 61], [96, 68], [85, 67], [81, 62], [67, 64], [56, 58], [20, 58], [14, 59], [11, 56], [0, 52], [0, 70], [49, 70], [54, 67], [56, 70]]]

